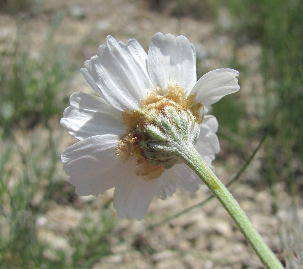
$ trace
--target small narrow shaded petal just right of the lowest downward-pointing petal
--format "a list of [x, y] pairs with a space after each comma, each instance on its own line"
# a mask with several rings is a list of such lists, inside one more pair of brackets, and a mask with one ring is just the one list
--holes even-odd
[[174, 172], [174, 167], [168, 170], [165, 170], [160, 178], [160, 183], [158, 190], [156, 192], [156, 196], [165, 200], [168, 197], [171, 197], [177, 188], [177, 176]]

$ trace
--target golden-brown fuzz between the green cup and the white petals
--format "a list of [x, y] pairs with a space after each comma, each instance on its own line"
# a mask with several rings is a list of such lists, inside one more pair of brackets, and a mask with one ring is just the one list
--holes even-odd
[[203, 121], [204, 114], [201, 112], [203, 105], [196, 101], [196, 94], [188, 96], [177, 83], [170, 83], [165, 90], [160, 87], [149, 90], [141, 111], [122, 112], [126, 133], [121, 137], [116, 153], [124, 159], [124, 162], [130, 155], [136, 154], [138, 165], [141, 167], [137, 175], [143, 176], [144, 179], [159, 178], [164, 171], [162, 166], [150, 164], [144, 159], [140, 153], [139, 142], [146, 139], [144, 128], [152, 123], [148, 112], [153, 111], [157, 115], [165, 114], [166, 107], [187, 112], [194, 122]]

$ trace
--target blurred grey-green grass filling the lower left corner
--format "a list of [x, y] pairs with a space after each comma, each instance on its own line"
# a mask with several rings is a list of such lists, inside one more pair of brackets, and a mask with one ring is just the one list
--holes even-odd
[[[63, 131], [63, 130], [62, 130]], [[12, 134], [14, 143], [0, 143], [0, 268], [91, 268], [108, 255], [107, 234], [114, 227], [112, 208], [86, 210], [76, 229], [60, 235], [48, 231], [56, 240], [66, 240], [72, 253], [41, 240], [37, 219], [44, 216], [55, 204], [77, 206], [59, 197], [57, 192], [72, 196], [74, 188], [64, 188], [62, 176], [58, 176], [56, 164], [60, 153], [55, 145], [62, 138], [62, 131], [35, 128], [20, 140]], [[24, 142], [26, 141], [26, 142]], [[41, 225], [41, 224], [40, 224]], [[43, 228], [42, 228], [43, 229]], [[40, 227], [41, 230], [41, 227]]]

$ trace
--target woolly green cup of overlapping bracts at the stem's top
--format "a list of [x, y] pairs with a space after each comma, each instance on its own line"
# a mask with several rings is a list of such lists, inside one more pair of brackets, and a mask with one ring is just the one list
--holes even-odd
[[180, 162], [180, 147], [196, 145], [199, 124], [191, 112], [174, 106], [166, 106], [160, 113], [150, 111], [147, 117], [150, 121], [139, 142], [140, 152], [151, 164], [169, 169]]

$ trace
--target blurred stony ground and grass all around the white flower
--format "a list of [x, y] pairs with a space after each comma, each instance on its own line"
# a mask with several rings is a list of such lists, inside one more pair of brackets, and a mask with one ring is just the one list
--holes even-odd
[[212, 106], [225, 184], [286, 268], [303, 268], [303, 2], [0, 0], [0, 268], [264, 268], [219, 202], [177, 189], [145, 218], [118, 219], [113, 190], [78, 197], [60, 153], [79, 69], [107, 35], [147, 51], [185, 35], [198, 78], [240, 72]]

